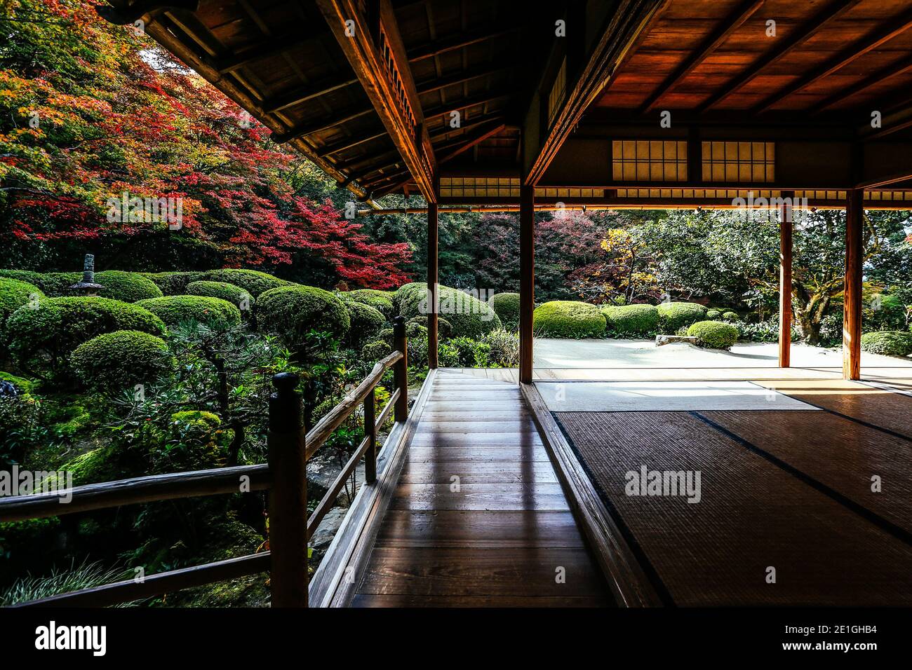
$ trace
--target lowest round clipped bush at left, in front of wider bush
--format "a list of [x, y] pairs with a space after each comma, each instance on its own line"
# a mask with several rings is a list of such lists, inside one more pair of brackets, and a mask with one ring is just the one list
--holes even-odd
[[161, 337], [118, 330], [78, 345], [70, 363], [86, 386], [119, 390], [153, 383], [171, 367], [171, 355]]

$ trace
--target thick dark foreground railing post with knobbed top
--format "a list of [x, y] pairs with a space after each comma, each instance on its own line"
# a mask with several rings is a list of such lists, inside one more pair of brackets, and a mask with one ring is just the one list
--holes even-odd
[[273, 607], [307, 606], [307, 471], [297, 375], [273, 377], [269, 397], [269, 588]]

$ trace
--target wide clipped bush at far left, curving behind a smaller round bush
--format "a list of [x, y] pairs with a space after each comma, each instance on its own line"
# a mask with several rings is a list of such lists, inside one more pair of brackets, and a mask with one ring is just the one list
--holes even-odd
[[56, 377], [68, 371], [69, 355], [78, 345], [116, 330], [164, 335], [165, 325], [140, 305], [81, 296], [26, 304], [10, 315], [5, 332], [20, 366], [36, 376]]

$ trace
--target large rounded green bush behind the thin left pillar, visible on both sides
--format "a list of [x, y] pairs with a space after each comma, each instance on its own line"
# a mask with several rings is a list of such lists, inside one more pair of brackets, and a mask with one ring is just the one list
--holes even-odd
[[[485, 333], [502, 327], [501, 320], [494, 314], [490, 304], [483, 303], [470, 294], [457, 291], [449, 286], [440, 286], [440, 309], [438, 315], [445, 316], [452, 326], [453, 337], [479, 339]], [[428, 285], [407, 283], [399, 288], [394, 298], [399, 314], [411, 319], [428, 313]]]

